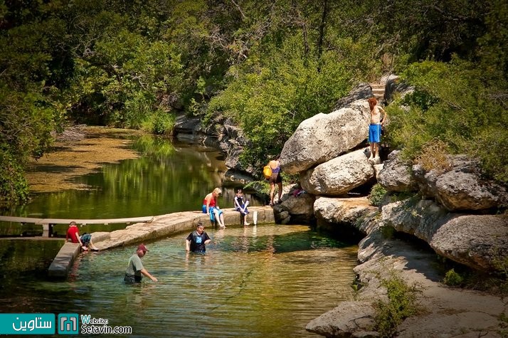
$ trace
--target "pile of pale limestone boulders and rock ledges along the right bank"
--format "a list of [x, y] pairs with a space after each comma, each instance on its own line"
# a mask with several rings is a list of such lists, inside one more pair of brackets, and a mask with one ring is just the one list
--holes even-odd
[[[287, 188], [282, 203], [274, 206], [275, 220], [307, 220], [360, 241], [355, 272], [364, 287], [357, 299], [314, 319], [307, 329], [327, 337], [377, 337], [371, 330], [376, 303], [386, 299], [382, 280], [396, 271], [420, 285], [425, 309], [425, 315], [398, 327], [399, 337], [458, 337], [460, 332], [472, 334], [460, 337], [483, 332], [499, 337], [499, 315], [507, 313], [502, 299], [448, 289], [433, 262], [440, 255], [485, 273], [507, 268], [502, 263], [508, 256], [506, 187], [483, 179], [477, 162], [464, 156], [450, 156], [444, 169], [430, 170], [403, 162], [398, 151], [381, 157], [381, 164], [369, 162], [366, 100], [372, 93], [366, 86], [356, 88], [334, 112], [302, 122], [280, 157], [282, 170], [300, 174], [300, 184]], [[354, 193], [375, 183], [387, 191], [379, 207]], [[393, 239], [386, 233], [405, 236]], [[420, 244], [411, 244], [411, 238]], [[482, 320], [473, 324], [475, 316]]]

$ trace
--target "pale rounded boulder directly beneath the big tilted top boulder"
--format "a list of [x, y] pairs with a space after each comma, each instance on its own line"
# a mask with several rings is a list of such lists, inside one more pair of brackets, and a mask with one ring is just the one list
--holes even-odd
[[339, 196], [373, 178], [374, 168], [359, 149], [303, 172], [300, 184], [314, 195]]

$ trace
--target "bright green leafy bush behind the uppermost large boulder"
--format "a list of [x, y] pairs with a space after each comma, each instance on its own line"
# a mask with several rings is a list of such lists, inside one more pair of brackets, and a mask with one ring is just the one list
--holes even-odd
[[280, 153], [300, 122], [329, 112], [349, 90], [346, 70], [325, 56], [318, 72], [317, 60], [305, 58], [301, 38], [287, 38], [266, 59], [233, 68], [228, 88], [210, 102], [209, 114], [233, 117], [252, 142], [243, 162], [257, 161], [259, 167], [267, 157]]

